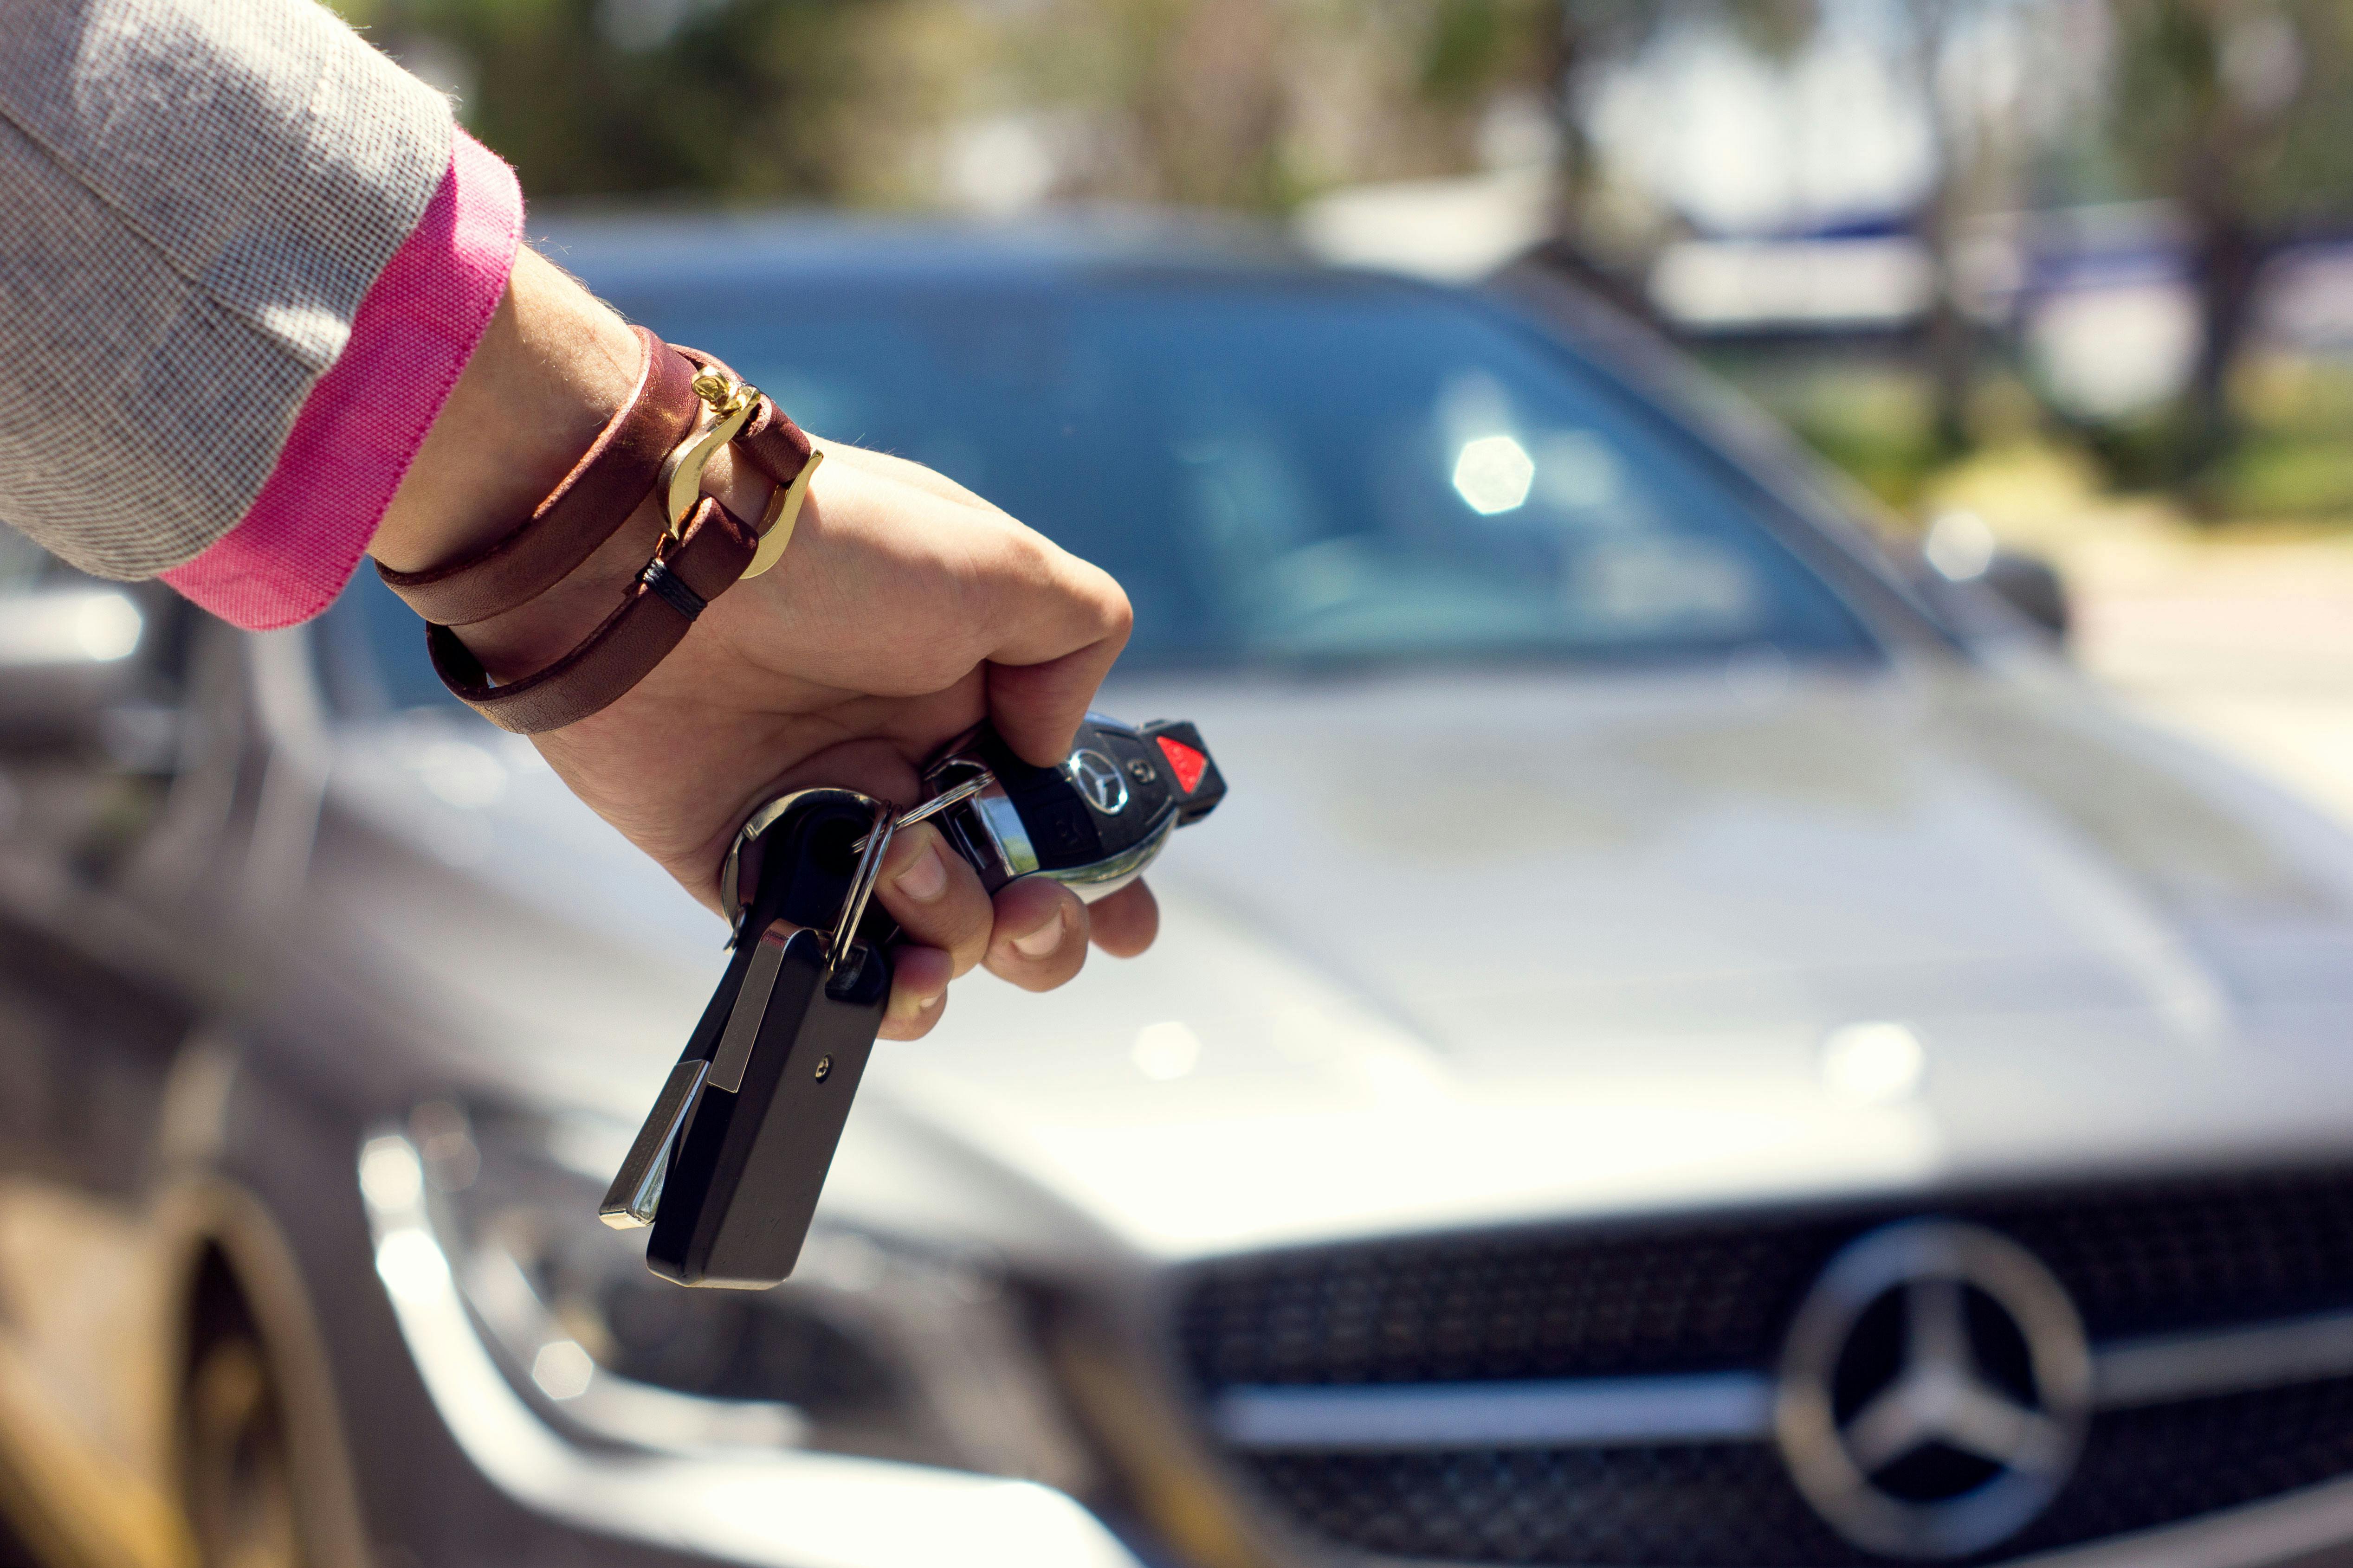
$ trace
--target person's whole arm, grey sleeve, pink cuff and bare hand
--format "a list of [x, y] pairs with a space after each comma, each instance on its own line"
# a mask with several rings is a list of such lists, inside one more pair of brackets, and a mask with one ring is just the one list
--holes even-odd
[[[0, 0], [0, 515], [61, 557], [240, 625], [301, 621], [362, 550], [421, 569], [511, 527], [626, 393], [619, 317], [515, 249], [511, 172], [315, 5]], [[776, 790], [908, 802], [913, 762], [984, 715], [1059, 762], [1127, 635], [1101, 571], [913, 463], [828, 454], [786, 564], [539, 738], [706, 903]], [[725, 458], [706, 487], [760, 512]], [[628, 534], [466, 628], [492, 675], [612, 607], [642, 567]], [[1085, 905], [1047, 884], [991, 905], [929, 827], [892, 844], [880, 898], [920, 943], [892, 1034], [974, 964], [1047, 987], [1085, 957]], [[1092, 933], [1134, 952], [1153, 919], [1134, 889]]]

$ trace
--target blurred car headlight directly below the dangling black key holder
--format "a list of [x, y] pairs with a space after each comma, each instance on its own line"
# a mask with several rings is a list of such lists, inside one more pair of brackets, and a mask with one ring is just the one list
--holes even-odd
[[1087, 1448], [1028, 1331], [1035, 1302], [995, 1258], [819, 1215], [784, 1286], [687, 1291], [645, 1269], [645, 1232], [598, 1222], [602, 1150], [581, 1143], [445, 1103], [384, 1140], [405, 1171], [421, 1157], [449, 1272], [546, 1415], [673, 1453], [809, 1448], [1087, 1490]]

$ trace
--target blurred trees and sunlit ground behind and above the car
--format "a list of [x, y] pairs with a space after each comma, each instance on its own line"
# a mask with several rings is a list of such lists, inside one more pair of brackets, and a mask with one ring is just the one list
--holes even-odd
[[2353, 0], [336, 2], [544, 214], [1134, 205], [1565, 273], [2353, 811]]

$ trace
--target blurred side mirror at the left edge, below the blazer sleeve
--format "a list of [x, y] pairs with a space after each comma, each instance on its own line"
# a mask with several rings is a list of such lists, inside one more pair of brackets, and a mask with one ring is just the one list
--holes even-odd
[[151, 696], [155, 621], [134, 590], [92, 578], [0, 595], [0, 745], [89, 738]]

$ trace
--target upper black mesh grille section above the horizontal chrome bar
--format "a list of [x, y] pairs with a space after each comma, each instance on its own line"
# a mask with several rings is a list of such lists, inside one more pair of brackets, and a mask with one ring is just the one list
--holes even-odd
[[[1238, 1258], [1195, 1281], [1179, 1338], [1205, 1389], [1765, 1368], [1831, 1253], [1901, 1213]], [[2094, 1340], [2353, 1305], [2353, 1173], [2045, 1192], [1939, 1213], [2042, 1258]]]

